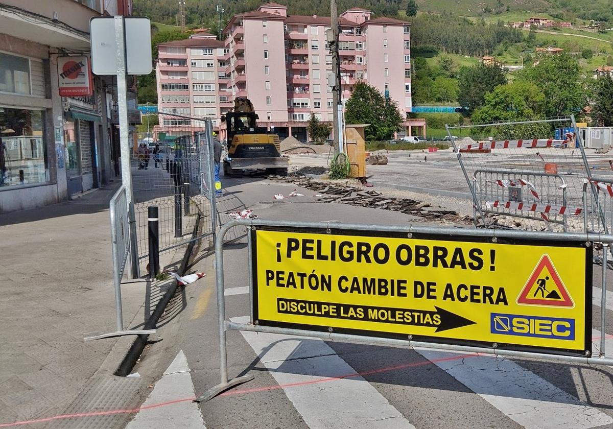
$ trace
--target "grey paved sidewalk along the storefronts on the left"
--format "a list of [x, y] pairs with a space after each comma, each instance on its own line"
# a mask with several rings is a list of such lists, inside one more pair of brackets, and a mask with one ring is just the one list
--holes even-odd
[[[0, 216], [0, 423], [61, 412], [115, 345], [83, 335], [115, 328], [109, 200], [120, 184]], [[146, 288], [123, 286], [124, 325], [144, 319]]]

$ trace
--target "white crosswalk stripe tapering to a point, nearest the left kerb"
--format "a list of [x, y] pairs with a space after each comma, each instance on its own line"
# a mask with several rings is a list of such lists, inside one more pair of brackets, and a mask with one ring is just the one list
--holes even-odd
[[[143, 404], [171, 401], [176, 398], [194, 397], [188, 361], [181, 350], [164, 375], [156, 382], [153, 391]], [[198, 404], [181, 401], [162, 408], [142, 408], [126, 429], [206, 429]]]

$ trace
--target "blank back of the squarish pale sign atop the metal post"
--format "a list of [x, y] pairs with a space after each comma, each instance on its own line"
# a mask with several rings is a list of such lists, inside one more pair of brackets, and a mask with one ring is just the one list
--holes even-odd
[[[115, 17], [89, 20], [91, 63], [96, 75], [117, 74]], [[147, 17], [124, 17], [126, 69], [129, 75], [147, 75], [153, 69], [151, 56], [151, 21]]]

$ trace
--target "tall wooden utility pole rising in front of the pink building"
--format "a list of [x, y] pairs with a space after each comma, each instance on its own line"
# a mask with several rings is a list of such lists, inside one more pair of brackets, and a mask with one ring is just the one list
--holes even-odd
[[332, 86], [333, 127], [334, 145], [339, 152], [345, 152], [343, 144], [343, 104], [342, 86], [340, 74], [340, 58], [338, 58], [338, 12], [337, 0], [330, 0], [330, 31], [326, 35], [330, 53], [332, 54], [332, 75], [328, 79], [328, 85]]

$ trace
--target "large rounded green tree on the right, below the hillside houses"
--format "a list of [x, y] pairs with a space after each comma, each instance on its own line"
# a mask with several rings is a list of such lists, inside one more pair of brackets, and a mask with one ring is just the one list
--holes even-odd
[[568, 54], [539, 56], [536, 66], [527, 64], [516, 78], [534, 83], [547, 99], [545, 116], [566, 116], [587, 105], [587, 91], [579, 62]]

